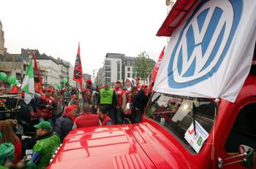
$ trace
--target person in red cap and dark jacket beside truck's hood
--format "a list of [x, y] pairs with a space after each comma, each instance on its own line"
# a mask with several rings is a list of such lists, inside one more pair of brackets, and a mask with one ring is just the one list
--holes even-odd
[[75, 122], [74, 115], [77, 109], [78, 106], [75, 104], [67, 106], [64, 114], [62, 114], [62, 116], [57, 119], [54, 125], [54, 132], [56, 133], [56, 135], [59, 135], [61, 141], [63, 141], [69, 131], [72, 130], [73, 124]]

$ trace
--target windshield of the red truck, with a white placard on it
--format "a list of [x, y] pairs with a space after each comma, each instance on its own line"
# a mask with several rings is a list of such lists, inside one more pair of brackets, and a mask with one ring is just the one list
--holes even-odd
[[185, 133], [199, 123], [200, 127], [196, 126], [195, 129], [198, 131], [204, 129], [208, 135], [213, 126], [216, 111], [217, 104], [207, 98], [154, 93], [146, 111], [146, 117], [165, 127], [190, 152], [198, 153], [200, 149], [195, 151], [197, 148], [189, 144]]

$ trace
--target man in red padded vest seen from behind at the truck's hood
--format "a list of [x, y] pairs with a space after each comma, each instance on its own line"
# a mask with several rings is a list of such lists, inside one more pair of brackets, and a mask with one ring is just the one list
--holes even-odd
[[82, 111], [83, 113], [75, 119], [73, 129], [99, 126], [99, 117], [96, 114], [91, 113], [89, 103], [83, 103]]

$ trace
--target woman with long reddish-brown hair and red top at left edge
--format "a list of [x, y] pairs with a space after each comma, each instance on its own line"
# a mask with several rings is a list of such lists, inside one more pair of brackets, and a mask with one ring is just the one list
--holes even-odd
[[13, 164], [17, 164], [17, 162], [21, 158], [22, 152], [20, 139], [13, 132], [10, 122], [0, 121], [0, 132], [2, 133], [2, 137], [0, 138], [0, 144], [10, 142], [15, 147]]

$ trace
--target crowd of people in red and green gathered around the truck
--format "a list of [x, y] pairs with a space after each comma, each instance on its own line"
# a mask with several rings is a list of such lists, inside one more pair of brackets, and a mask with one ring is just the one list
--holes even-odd
[[88, 79], [83, 91], [75, 87], [56, 90], [53, 86], [44, 92], [36, 89], [29, 103], [38, 118], [34, 125], [36, 138], [30, 144], [31, 155], [25, 152], [28, 144], [24, 146], [15, 133], [17, 120], [1, 120], [0, 168], [46, 168], [52, 153], [75, 128], [121, 125], [124, 119], [129, 123], [140, 122], [152, 85], [140, 85], [139, 80], [126, 79], [124, 86], [117, 81], [113, 87], [108, 82], [94, 87]]

